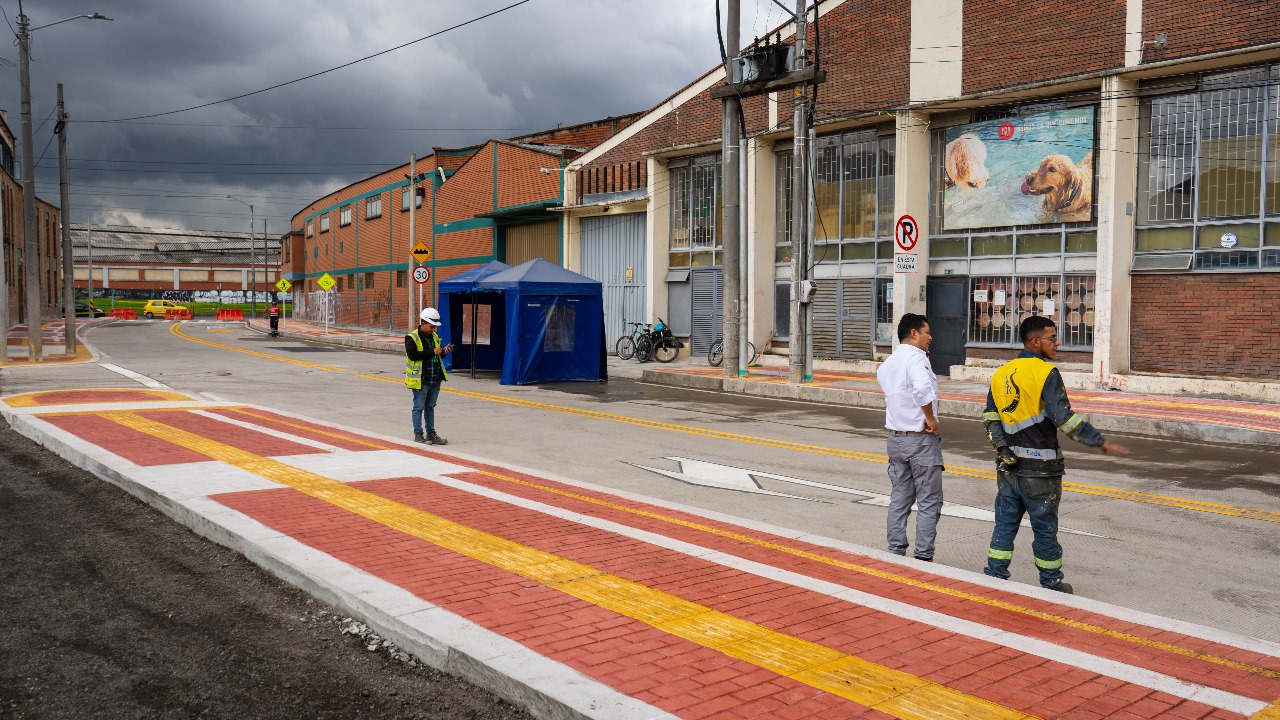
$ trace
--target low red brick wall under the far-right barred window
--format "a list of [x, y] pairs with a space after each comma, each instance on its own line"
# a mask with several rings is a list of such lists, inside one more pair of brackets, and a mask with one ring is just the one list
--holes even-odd
[[1280, 274], [1134, 275], [1139, 373], [1280, 378]]

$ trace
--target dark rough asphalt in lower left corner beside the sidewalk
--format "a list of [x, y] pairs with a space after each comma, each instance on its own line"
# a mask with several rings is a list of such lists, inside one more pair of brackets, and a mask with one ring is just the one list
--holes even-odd
[[0, 717], [529, 717], [6, 424], [0, 548]]

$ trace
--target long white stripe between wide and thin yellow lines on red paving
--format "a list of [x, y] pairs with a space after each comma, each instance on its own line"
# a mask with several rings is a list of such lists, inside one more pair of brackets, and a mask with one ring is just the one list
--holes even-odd
[[1203, 702], [1206, 705], [1220, 707], [1222, 710], [1229, 710], [1231, 712], [1253, 715], [1254, 712], [1258, 712], [1260, 710], [1267, 706], [1267, 703], [1262, 701], [1257, 701], [1226, 691], [1220, 691], [1216, 688], [1210, 688], [1198, 683], [1181, 680], [1179, 678], [1174, 678], [1172, 675], [1166, 675], [1164, 673], [1156, 673], [1153, 670], [1147, 670], [1144, 667], [1138, 667], [1134, 665], [1128, 665], [1125, 662], [1119, 662], [1106, 657], [1100, 657], [1092, 653], [1062, 647], [1051, 643], [1048, 641], [1030, 638], [1027, 635], [1020, 635], [1018, 633], [1011, 633], [1007, 630], [1001, 630], [998, 628], [992, 628], [988, 625], [974, 623], [972, 620], [964, 620], [961, 618], [945, 615], [934, 610], [927, 610], [923, 607], [918, 607], [915, 605], [909, 605], [896, 600], [881, 597], [878, 594], [861, 592], [837, 583], [819, 580], [815, 578], [810, 578], [808, 575], [801, 575], [799, 573], [783, 570], [773, 565], [765, 565], [763, 562], [745, 560], [735, 555], [728, 555], [726, 552], [716, 551], [699, 544], [678, 541], [675, 538], [660, 536], [658, 533], [652, 533], [649, 530], [640, 530], [628, 525], [614, 523], [612, 520], [603, 520], [599, 518], [593, 518], [590, 515], [582, 515], [572, 510], [564, 510], [563, 507], [556, 507], [553, 505], [547, 505], [543, 502], [538, 502], [535, 500], [517, 497], [513, 495], [508, 495], [500, 491], [495, 491], [465, 480], [458, 480], [453, 478], [433, 478], [433, 479], [435, 482], [439, 482], [440, 484], [456, 489], [488, 497], [490, 500], [506, 502], [508, 505], [515, 505], [517, 507], [525, 507], [527, 510], [543, 512], [544, 515], [550, 515], [553, 518], [559, 518], [562, 520], [568, 520], [581, 525], [588, 525], [600, 530], [607, 530], [631, 539], [646, 542], [649, 544], [671, 550], [681, 555], [698, 557], [708, 562], [716, 562], [718, 565], [723, 565], [724, 568], [731, 568], [733, 570], [749, 573], [758, 578], [777, 580], [780, 583], [786, 583], [794, 587], [813, 591], [828, 597], [835, 597], [851, 603], [870, 607], [872, 610], [878, 610], [881, 612], [893, 615], [895, 618], [902, 618], [905, 620], [924, 623], [927, 625], [941, 628], [943, 630], [956, 633], [959, 635], [966, 635], [970, 638], [988, 641], [998, 646], [1011, 647], [1014, 650], [1019, 650], [1029, 655], [1043, 657], [1046, 660], [1062, 662], [1073, 667], [1082, 667], [1084, 670], [1089, 670], [1091, 673], [1097, 673], [1100, 675], [1115, 678], [1125, 683], [1143, 685], [1155, 691], [1169, 693], [1171, 696], [1187, 700], [1194, 700], [1197, 702]]

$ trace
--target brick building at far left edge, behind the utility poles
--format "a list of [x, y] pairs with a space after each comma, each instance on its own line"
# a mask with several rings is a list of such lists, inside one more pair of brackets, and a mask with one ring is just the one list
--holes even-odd
[[[9, 293], [9, 323], [22, 324], [27, 318], [26, 234], [22, 209], [22, 179], [15, 174], [17, 143], [9, 129], [8, 115], [0, 110], [0, 249], [4, 277]], [[38, 247], [40, 314], [56, 316], [61, 307], [61, 238], [58, 206], [36, 199], [36, 243]]]

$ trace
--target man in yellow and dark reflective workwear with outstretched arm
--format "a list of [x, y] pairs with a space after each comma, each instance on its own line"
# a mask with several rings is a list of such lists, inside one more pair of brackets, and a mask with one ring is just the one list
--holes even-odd
[[982, 414], [987, 439], [996, 447], [996, 529], [991, 534], [984, 571], [1009, 579], [1014, 537], [1030, 516], [1032, 551], [1041, 585], [1070, 593], [1062, 582], [1062, 546], [1057, 542], [1057, 506], [1062, 500], [1066, 464], [1057, 446], [1057, 430], [1107, 455], [1129, 450], [1071, 411], [1062, 375], [1050, 360], [1057, 356], [1053, 320], [1033, 315], [1018, 328], [1023, 351], [991, 378], [987, 407]]

